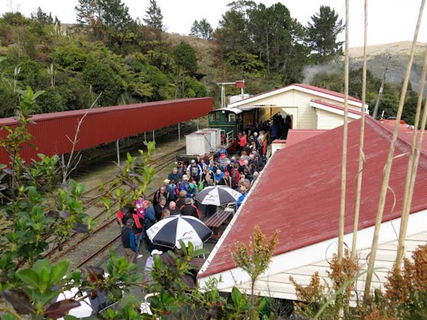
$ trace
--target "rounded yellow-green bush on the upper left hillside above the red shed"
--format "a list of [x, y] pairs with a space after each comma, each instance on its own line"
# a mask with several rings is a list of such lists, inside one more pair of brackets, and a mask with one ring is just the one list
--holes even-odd
[[52, 59], [55, 64], [66, 70], [82, 71], [85, 67], [87, 54], [84, 49], [75, 44], [70, 44], [58, 47], [52, 53]]

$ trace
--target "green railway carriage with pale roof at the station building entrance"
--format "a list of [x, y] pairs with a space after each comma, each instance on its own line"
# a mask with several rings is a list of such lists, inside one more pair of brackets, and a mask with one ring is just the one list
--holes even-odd
[[221, 108], [208, 114], [209, 127], [221, 129], [228, 139], [236, 139], [237, 133], [243, 130], [243, 113], [239, 109]]

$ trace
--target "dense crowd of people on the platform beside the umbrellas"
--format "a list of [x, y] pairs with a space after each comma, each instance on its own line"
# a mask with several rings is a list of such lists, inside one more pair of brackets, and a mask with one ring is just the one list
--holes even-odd
[[151, 202], [141, 198], [119, 210], [117, 220], [122, 227], [127, 261], [134, 263], [142, 256], [138, 254], [141, 242], [145, 242], [147, 252], [164, 249], [154, 245], [146, 231], [165, 217], [180, 214], [202, 219], [212, 215], [216, 206], [202, 205], [194, 200], [208, 186], [228, 186], [240, 192], [238, 208], [266, 163], [268, 130], [269, 127], [257, 124], [239, 132], [236, 155], [229, 155], [222, 146], [214, 155], [206, 153], [188, 161], [178, 161]]

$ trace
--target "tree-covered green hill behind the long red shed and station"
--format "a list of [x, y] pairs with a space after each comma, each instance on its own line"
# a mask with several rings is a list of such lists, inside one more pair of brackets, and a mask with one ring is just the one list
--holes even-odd
[[[251, 94], [304, 81], [342, 92], [342, 42], [337, 40], [342, 20], [329, 6], [313, 11], [303, 25], [280, 2], [267, 7], [238, 0], [228, 4], [216, 30], [204, 17], [188, 23], [190, 36], [164, 31], [156, 0], [150, 0], [142, 21], [130, 17], [122, 0], [79, 0], [73, 25], [61, 26], [41, 8], [31, 17], [5, 12], [0, 18], [0, 117], [13, 116], [15, 90], [27, 86], [46, 90], [38, 113], [87, 108], [101, 92], [99, 106], [206, 95], [218, 105], [216, 82], [239, 79]], [[352, 52], [350, 93], [360, 97], [360, 57], [357, 48]], [[370, 104], [381, 85], [377, 66], [383, 56], [371, 56]], [[404, 58], [396, 64], [404, 67]], [[415, 69], [416, 88], [419, 64]], [[380, 105], [387, 116], [394, 115], [400, 92], [394, 78], [386, 83]], [[238, 93], [227, 88], [227, 94]], [[411, 89], [404, 114], [408, 122], [417, 97]]]

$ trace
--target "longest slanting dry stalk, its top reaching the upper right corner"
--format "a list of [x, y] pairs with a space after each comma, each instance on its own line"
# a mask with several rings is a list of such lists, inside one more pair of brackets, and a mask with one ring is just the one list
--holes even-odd
[[400, 94], [399, 106], [397, 108], [396, 121], [394, 122], [394, 131], [390, 141], [390, 149], [388, 151], [387, 162], [384, 167], [383, 184], [381, 186], [380, 200], [378, 203], [378, 210], [377, 210], [377, 220], [375, 222], [374, 238], [372, 239], [371, 254], [369, 256], [368, 272], [366, 274], [365, 290], [363, 294], [364, 303], [367, 303], [367, 301], [369, 300], [368, 297], [371, 289], [372, 270], [374, 268], [375, 258], [377, 256], [378, 237], [380, 234], [381, 222], [383, 220], [385, 196], [387, 194], [391, 164], [393, 163], [394, 145], [396, 143], [397, 133], [399, 131], [400, 118], [402, 117], [403, 104], [405, 103], [406, 90], [408, 88], [409, 76], [411, 74], [412, 62], [414, 60], [415, 46], [417, 44], [418, 32], [420, 30], [420, 24], [423, 17], [423, 10], [424, 10], [425, 3], [426, 3], [426, 0], [421, 1], [417, 27], [415, 28], [414, 39], [412, 41], [411, 55], [409, 58], [408, 66], [406, 68], [405, 79], [403, 80], [402, 93]]

